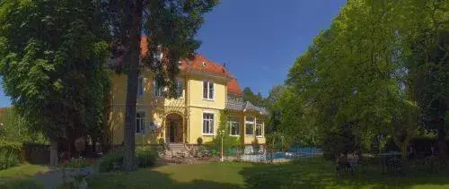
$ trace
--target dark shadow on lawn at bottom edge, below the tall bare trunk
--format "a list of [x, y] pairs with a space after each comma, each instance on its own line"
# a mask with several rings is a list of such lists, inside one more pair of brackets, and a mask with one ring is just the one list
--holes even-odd
[[89, 188], [241, 188], [242, 185], [218, 183], [203, 179], [179, 182], [171, 174], [142, 168], [136, 172], [111, 172], [93, 176]]

